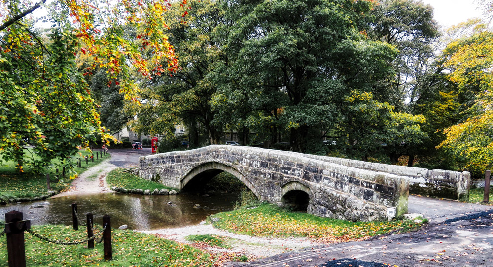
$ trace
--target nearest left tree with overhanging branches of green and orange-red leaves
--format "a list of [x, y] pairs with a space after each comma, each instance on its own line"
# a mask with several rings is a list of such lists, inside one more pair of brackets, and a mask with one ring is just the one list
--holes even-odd
[[[0, 151], [22, 171], [24, 144], [32, 144], [40, 157], [32, 158], [32, 169], [40, 173], [49, 171], [53, 159], [70, 169], [70, 157], [91, 139], [111, 139], [84, 75], [106, 69], [109, 83], [119, 84], [125, 99], [136, 100], [132, 68], [148, 78], [177, 68], [165, 34], [167, 1], [45, 2], [0, 3]], [[43, 31], [28, 16], [41, 6], [48, 9], [45, 22], [51, 25]], [[186, 1], [182, 7], [184, 16]], [[124, 25], [136, 31], [124, 31]], [[80, 55], [92, 58], [84, 73], [77, 69]], [[163, 58], [167, 67], [160, 63]]]

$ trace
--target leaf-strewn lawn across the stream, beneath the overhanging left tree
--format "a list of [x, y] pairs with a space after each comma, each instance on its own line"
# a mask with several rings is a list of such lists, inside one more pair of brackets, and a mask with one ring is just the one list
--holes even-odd
[[[88, 155], [86, 151], [82, 152], [83, 156]], [[77, 155], [77, 157], [80, 157]], [[82, 160], [82, 167], [75, 167], [74, 170], [77, 173], [82, 173], [86, 169], [98, 165], [105, 159], [110, 158], [109, 154], [103, 155], [103, 158], [99, 158], [96, 160], [96, 156], [94, 158], [94, 162], [90, 161], [88, 164]], [[61, 174], [61, 170], [59, 170]], [[60, 178], [60, 182], [51, 183], [51, 188], [53, 191], [62, 192], [69, 188], [70, 183], [73, 180], [69, 179], [69, 175], [67, 177]], [[53, 179], [54, 180], [54, 179]], [[15, 164], [13, 162], [6, 162], [2, 164], [0, 168], [0, 202], [8, 202], [10, 200], [18, 201], [30, 201], [42, 199], [48, 196], [48, 190], [46, 187], [46, 178], [39, 177], [30, 172], [29, 169], [25, 169], [25, 172], [20, 174], [15, 169]]]

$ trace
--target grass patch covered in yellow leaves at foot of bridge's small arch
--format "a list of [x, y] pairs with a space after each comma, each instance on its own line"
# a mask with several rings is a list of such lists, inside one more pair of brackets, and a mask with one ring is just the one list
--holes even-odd
[[348, 222], [289, 212], [272, 204], [222, 212], [212, 217], [220, 219], [216, 222], [211, 220], [214, 227], [238, 234], [308, 237], [326, 243], [361, 240], [391, 231], [413, 231], [422, 225], [409, 220]]

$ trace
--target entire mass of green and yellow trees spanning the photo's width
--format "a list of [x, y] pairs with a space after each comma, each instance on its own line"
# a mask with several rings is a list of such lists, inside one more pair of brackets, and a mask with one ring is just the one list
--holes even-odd
[[[179, 144], [184, 124], [191, 147], [235, 138], [476, 175], [491, 167], [493, 33], [479, 19], [440, 33], [417, 0], [1, 7], [0, 150], [19, 170], [55, 158], [70, 167], [126, 124], [163, 144]], [[41, 7], [49, 29], [29, 16]], [[23, 162], [26, 145], [43, 161]]]

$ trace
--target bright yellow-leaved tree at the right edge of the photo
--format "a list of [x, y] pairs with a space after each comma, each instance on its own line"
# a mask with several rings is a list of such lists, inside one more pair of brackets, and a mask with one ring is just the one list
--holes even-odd
[[469, 37], [450, 43], [446, 67], [459, 92], [473, 96], [467, 116], [445, 130], [440, 147], [451, 151], [463, 167], [479, 174], [493, 163], [493, 32], [478, 28]]

